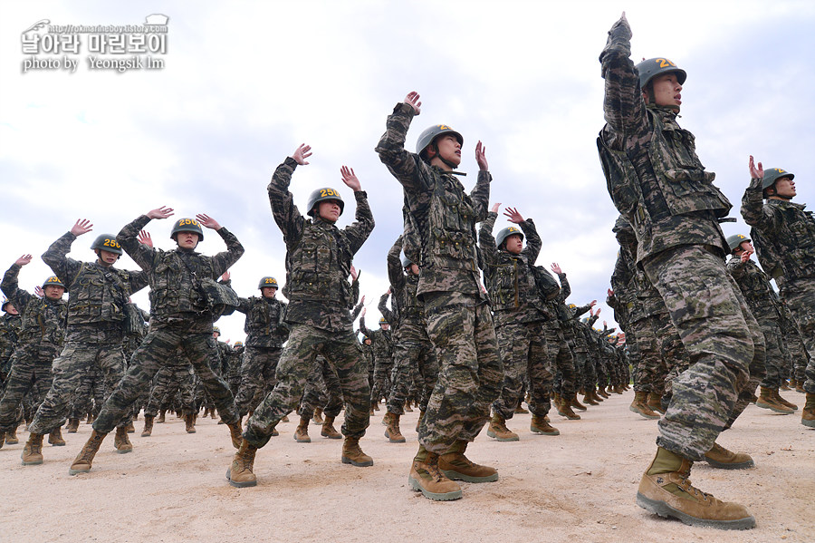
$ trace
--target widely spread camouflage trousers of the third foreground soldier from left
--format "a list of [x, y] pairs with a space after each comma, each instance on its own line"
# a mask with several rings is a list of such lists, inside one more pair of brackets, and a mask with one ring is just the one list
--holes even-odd
[[[194, 330], [200, 329], [199, 323], [193, 322], [190, 326], [193, 326]], [[93, 422], [93, 429], [108, 433], [120, 424], [131, 412], [131, 407], [139, 399], [139, 394], [149, 387], [158, 369], [168, 365], [168, 360], [177, 356], [179, 348], [215, 402], [221, 419], [226, 424], [238, 422], [235, 401], [229, 387], [209, 365], [212, 353], [216, 349], [215, 342], [216, 339], [211, 333], [190, 331], [186, 325], [159, 326], [155, 329], [151, 326], [144, 341], [133, 354], [127, 373], [102, 406], [99, 417]]]

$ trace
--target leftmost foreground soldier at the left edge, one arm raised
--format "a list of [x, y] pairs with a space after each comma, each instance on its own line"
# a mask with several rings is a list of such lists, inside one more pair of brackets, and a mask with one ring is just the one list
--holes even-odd
[[[15, 431], [19, 423], [19, 409], [26, 393], [33, 393], [33, 409], [43, 402], [53, 383], [53, 359], [62, 349], [65, 339], [68, 303], [62, 300], [65, 285], [57, 276], [48, 277], [43, 283], [43, 298], [25, 292], [17, 285], [20, 268], [31, 262], [31, 255], [23, 255], [14, 261], [3, 276], [0, 288], [8, 300], [23, 312], [19, 344], [14, 349], [11, 372], [0, 400], [0, 447], [5, 436], [11, 435], [16, 442]], [[53, 428], [48, 441], [62, 446], [60, 425]], [[23, 449], [23, 465], [43, 463], [43, 436], [29, 439]]]

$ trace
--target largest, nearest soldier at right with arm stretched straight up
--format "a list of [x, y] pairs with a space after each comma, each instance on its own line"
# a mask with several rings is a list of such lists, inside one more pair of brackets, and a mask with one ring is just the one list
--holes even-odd
[[763, 365], [761, 330], [724, 267], [718, 218], [730, 202], [676, 122], [686, 72], [665, 58], [631, 62], [625, 14], [600, 54], [607, 124], [598, 150], [609, 193], [638, 239], [637, 264], [665, 301], [692, 364], [673, 383], [658, 422], [657, 455], [643, 474], [638, 505], [695, 526], [753, 528], [746, 508], [692, 485], [694, 461], [754, 397], [751, 369]]

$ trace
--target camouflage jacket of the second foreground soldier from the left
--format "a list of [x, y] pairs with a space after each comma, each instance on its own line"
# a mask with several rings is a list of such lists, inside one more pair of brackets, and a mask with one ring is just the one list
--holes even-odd
[[78, 262], [68, 257], [76, 239], [66, 232], [43, 253], [43, 262], [62, 278], [68, 298], [68, 341], [111, 341], [123, 339], [124, 305], [130, 295], [148, 284], [143, 271], [104, 267], [99, 261]]

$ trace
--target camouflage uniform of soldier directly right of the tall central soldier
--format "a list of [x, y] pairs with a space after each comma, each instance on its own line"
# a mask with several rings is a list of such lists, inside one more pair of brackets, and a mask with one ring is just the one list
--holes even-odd
[[503, 362], [501, 395], [493, 411], [504, 421], [513, 418], [523, 398], [523, 383], [529, 383], [532, 414], [544, 417], [551, 407], [552, 386], [543, 323], [546, 315], [538, 307], [540, 296], [532, 266], [541, 253], [542, 242], [531, 218], [518, 226], [526, 247], [518, 255], [495, 246], [493, 228], [498, 214], [490, 211], [481, 223], [478, 244], [484, 257], [484, 277], [493, 305], [495, 335]]

